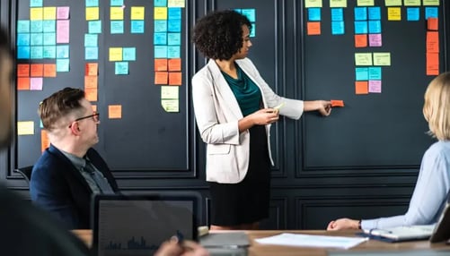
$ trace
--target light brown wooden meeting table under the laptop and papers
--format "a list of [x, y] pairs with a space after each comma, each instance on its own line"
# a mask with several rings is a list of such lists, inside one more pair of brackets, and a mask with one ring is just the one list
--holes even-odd
[[[92, 244], [93, 233], [88, 229], [73, 230], [75, 235], [80, 237], [88, 246]], [[271, 235], [278, 235], [281, 233], [296, 233], [306, 235], [336, 235], [355, 237], [355, 231], [325, 231], [325, 230], [258, 230], [245, 231], [251, 240], [249, 248], [249, 256], [326, 256], [328, 252], [339, 252], [339, 249], [325, 249], [325, 248], [308, 248], [308, 247], [294, 247], [294, 246], [278, 246], [278, 245], [263, 245], [256, 243], [254, 239], [267, 237]], [[429, 243], [428, 241], [415, 242], [401, 242], [401, 243], [384, 243], [376, 240], [369, 240], [360, 243], [354, 248], [347, 251], [351, 252], [374, 252], [374, 251], [418, 251], [418, 250], [437, 250], [448, 251], [450, 255], [450, 246], [446, 243]]]

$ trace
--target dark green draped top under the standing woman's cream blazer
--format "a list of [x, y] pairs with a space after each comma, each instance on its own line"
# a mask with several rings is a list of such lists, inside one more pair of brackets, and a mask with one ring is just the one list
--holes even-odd
[[260, 88], [251, 81], [250, 77], [237, 65], [237, 79], [222, 72], [225, 80], [228, 82], [231, 90], [233, 90], [234, 97], [243, 112], [243, 116], [250, 115], [260, 110], [261, 93]]

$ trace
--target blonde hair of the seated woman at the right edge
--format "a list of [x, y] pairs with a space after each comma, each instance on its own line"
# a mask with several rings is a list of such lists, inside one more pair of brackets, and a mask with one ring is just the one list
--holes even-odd
[[450, 140], [450, 72], [439, 74], [429, 83], [423, 115], [431, 136], [439, 141]]

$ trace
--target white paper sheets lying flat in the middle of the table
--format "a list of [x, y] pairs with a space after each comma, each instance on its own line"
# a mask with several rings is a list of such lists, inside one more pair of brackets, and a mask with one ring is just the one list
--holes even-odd
[[264, 238], [255, 239], [262, 244], [305, 246], [305, 247], [333, 247], [340, 249], [349, 249], [357, 246], [359, 243], [367, 241], [367, 237], [345, 237], [329, 235], [302, 235], [283, 233]]

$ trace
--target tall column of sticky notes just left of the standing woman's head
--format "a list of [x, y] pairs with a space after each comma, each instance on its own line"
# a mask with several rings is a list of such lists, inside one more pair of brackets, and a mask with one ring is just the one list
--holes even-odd
[[181, 10], [184, 0], [154, 0], [154, 84], [161, 86], [161, 106], [180, 111], [182, 85]]

